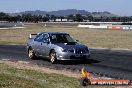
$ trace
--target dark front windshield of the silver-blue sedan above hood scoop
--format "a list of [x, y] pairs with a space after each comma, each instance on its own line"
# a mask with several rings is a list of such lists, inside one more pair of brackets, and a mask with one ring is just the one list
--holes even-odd
[[75, 43], [74, 40], [69, 34], [51, 34], [52, 43]]

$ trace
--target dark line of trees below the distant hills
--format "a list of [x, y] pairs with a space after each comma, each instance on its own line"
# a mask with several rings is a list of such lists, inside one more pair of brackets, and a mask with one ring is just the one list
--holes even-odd
[[68, 16], [55, 16], [46, 14], [42, 15], [31, 15], [31, 14], [22, 14], [17, 16], [11, 16], [6, 13], [0, 12], [0, 21], [8, 22], [47, 22], [47, 21], [56, 21], [56, 19], [67, 19], [70, 22], [132, 22], [132, 16], [123, 16], [123, 17], [93, 17], [92, 15], [68, 15]]

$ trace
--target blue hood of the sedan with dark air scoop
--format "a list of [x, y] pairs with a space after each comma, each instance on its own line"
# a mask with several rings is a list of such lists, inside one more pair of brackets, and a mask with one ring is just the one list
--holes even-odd
[[54, 45], [59, 46], [63, 49], [86, 49], [87, 46], [80, 43], [55, 43]]

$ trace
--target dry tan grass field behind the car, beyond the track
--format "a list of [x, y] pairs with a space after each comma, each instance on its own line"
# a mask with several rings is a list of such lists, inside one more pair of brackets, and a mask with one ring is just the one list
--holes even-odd
[[[44, 25], [44, 24], [43, 24]], [[89, 47], [132, 49], [132, 31], [78, 28], [76, 26], [30, 25], [26, 29], [0, 29], [0, 44], [26, 44], [30, 33], [67, 32]]]

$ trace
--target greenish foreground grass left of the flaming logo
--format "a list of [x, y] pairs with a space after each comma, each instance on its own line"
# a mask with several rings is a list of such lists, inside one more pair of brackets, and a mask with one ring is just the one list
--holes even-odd
[[77, 79], [0, 64], [0, 88], [81, 88]]

